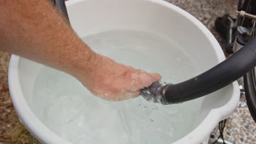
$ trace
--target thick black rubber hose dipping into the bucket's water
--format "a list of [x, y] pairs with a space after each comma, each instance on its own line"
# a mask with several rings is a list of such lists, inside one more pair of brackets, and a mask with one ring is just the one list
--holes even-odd
[[181, 83], [164, 86], [161, 90], [162, 103], [182, 103], [210, 94], [236, 81], [255, 66], [256, 38], [205, 73]]

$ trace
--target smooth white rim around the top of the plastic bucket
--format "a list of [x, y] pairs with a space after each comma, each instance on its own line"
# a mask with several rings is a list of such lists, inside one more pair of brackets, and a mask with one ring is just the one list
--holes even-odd
[[[69, 5], [77, 4], [79, 2], [86, 0], [73, 0], [66, 1], [67, 8]], [[222, 62], [225, 59], [224, 53], [212, 33], [194, 16], [189, 14], [187, 11], [178, 8], [176, 5], [168, 3], [162, 0], [140, 0], [140, 1], [149, 1], [154, 2], [155, 4], [162, 5], [169, 9], [173, 9], [177, 13], [184, 16], [185, 19], [190, 20], [195, 24], [195, 26], [199, 27], [201, 32], [205, 35], [205, 37], [210, 41], [211, 46], [215, 51], [215, 56], [218, 59], [218, 62]], [[46, 127], [40, 120], [34, 115], [30, 107], [28, 106], [24, 95], [22, 93], [22, 89], [20, 86], [19, 79], [19, 64], [20, 57], [16, 55], [11, 55], [10, 63], [9, 63], [9, 71], [8, 71], [8, 82], [9, 82], [9, 90], [11, 95], [11, 100], [13, 102], [16, 113], [18, 114], [20, 121], [25, 127], [30, 131], [40, 142], [43, 143], [70, 143], [67, 140], [61, 139], [61, 137], [55, 134], [52, 130]], [[230, 84], [232, 87], [232, 97], [225, 105], [218, 107], [217, 109], [212, 109], [208, 115], [203, 119], [203, 121], [197, 125], [197, 127], [190, 131], [187, 135], [183, 136], [181, 139], [175, 141], [175, 144], [179, 143], [199, 143], [205, 140], [210, 132], [208, 129], [214, 129], [218, 122], [222, 119], [225, 119], [231, 115], [231, 113], [236, 109], [237, 103], [240, 97], [240, 91], [238, 88], [238, 83], [233, 82]], [[195, 135], [196, 134], [196, 135]]]

